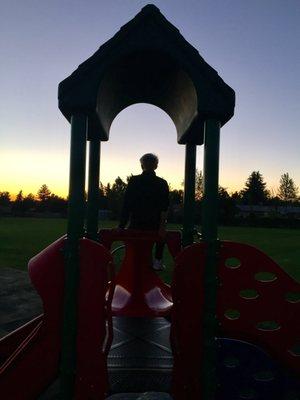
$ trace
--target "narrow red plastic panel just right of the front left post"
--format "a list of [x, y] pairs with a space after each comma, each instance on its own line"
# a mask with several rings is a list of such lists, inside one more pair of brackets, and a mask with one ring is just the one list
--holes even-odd
[[80, 254], [75, 399], [100, 400], [108, 391], [106, 352], [112, 340], [113, 282], [105, 267], [112, 263], [112, 256], [90, 240], [82, 240]]

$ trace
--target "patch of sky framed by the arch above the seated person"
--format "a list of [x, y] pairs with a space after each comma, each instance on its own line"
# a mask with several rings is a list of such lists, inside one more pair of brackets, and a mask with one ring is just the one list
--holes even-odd
[[181, 189], [184, 147], [174, 140], [176, 127], [160, 108], [134, 104], [122, 110], [110, 128], [110, 139], [102, 145], [100, 180], [112, 182], [117, 176], [141, 173], [139, 159], [145, 153], [159, 157], [157, 175], [174, 189]]

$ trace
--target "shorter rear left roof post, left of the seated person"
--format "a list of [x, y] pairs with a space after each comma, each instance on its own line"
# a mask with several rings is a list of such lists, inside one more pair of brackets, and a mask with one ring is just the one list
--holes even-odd
[[90, 140], [87, 237], [98, 240], [100, 140]]

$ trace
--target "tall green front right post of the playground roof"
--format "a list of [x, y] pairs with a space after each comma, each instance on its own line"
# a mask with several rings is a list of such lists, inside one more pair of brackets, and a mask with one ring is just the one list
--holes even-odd
[[216, 299], [218, 255], [218, 189], [219, 189], [220, 122], [209, 119], [204, 133], [204, 194], [202, 202], [202, 240], [206, 243], [204, 272], [203, 320], [203, 399], [212, 400], [216, 390]]

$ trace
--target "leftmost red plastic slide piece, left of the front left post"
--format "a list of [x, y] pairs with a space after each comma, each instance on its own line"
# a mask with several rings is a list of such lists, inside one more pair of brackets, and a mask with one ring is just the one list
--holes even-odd
[[42, 297], [45, 315], [1, 366], [0, 392], [5, 399], [36, 399], [57, 375], [64, 279], [62, 247], [60, 239], [29, 263], [29, 274]]

